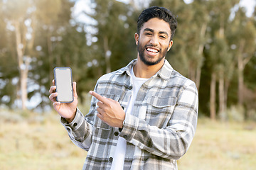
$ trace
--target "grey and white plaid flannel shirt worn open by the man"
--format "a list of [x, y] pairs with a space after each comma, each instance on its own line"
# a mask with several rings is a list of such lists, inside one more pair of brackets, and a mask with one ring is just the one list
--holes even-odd
[[[125, 109], [132, 95], [130, 69], [105, 74], [95, 92], [118, 101]], [[61, 118], [70, 139], [87, 150], [83, 169], [110, 169], [118, 137], [127, 140], [126, 169], [178, 169], [176, 160], [186, 153], [195, 135], [198, 92], [193, 81], [164, 66], [139, 89], [132, 114], [127, 114], [122, 131], [97, 118], [97, 99], [92, 97], [85, 117], [77, 110], [72, 123]]]

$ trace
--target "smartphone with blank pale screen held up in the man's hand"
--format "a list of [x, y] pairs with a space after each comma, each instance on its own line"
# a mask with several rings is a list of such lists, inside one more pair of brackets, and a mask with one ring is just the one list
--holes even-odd
[[72, 70], [70, 67], [55, 67], [54, 80], [58, 96], [56, 101], [60, 103], [71, 103], [74, 101]]

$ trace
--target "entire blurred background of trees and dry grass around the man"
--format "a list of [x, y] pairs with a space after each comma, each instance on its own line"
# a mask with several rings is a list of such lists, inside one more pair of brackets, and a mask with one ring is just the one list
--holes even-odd
[[48, 99], [53, 68], [73, 69], [86, 114], [97, 79], [137, 57], [137, 18], [149, 6], [176, 14], [166, 60], [199, 93], [179, 169], [255, 169], [255, 0], [1, 0], [0, 169], [82, 169], [86, 152]]

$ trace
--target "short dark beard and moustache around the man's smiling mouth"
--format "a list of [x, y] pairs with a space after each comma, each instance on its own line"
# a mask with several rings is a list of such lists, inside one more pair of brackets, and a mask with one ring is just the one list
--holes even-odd
[[144, 64], [148, 66], [159, 64], [159, 62], [161, 62], [161, 60], [164, 59], [166, 53], [168, 52], [168, 47], [166, 47], [164, 50], [160, 48], [158, 52], [159, 57], [156, 60], [149, 60], [145, 57], [144, 54], [144, 50], [146, 50], [146, 47], [154, 47], [154, 45], [145, 45], [144, 47], [142, 47], [142, 45], [138, 42], [137, 50], [139, 52], [139, 59], [142, 60], [142, 62], [144, 62]]

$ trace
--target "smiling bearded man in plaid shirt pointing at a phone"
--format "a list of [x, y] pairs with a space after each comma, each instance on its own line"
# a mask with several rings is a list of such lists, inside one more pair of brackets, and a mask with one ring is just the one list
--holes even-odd
[[105, 74], [90, 91], [85, 118], [73, 103], [50, 100], [70, 139], [87, 150], [83, 169], [178, 169], [196, 131], [198, 94], [193, 81], [165, 60], [177, 21], [166, 8], [146, 8], [138, 19], [137, 60]]

